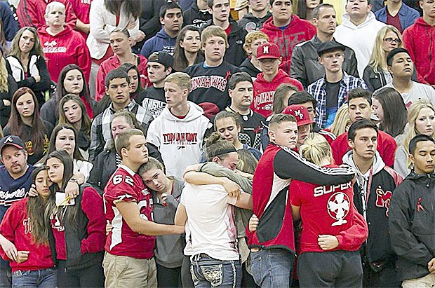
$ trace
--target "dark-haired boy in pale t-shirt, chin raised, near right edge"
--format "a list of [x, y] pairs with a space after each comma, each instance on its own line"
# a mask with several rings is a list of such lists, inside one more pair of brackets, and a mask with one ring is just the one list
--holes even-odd
[[411, 78], [414, 73], [414, 63], [405, 48], [396, 48], [387, 55], [388, 71], [393, 81], [384, 87], [391, 87], [402, 95], [406, 107], [417, 100], [429, 100], [435, 105], [435, 90], [430, 85], [417, 83]]

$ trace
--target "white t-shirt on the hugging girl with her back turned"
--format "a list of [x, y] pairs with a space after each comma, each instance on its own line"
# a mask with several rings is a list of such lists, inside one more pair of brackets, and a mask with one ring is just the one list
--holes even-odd
[[[186, 184], [180, 203], [185, 205], [193, 255], [205, 253], [219, 260], [238, 260], [234, 208], [222, 185]], [[232, 205], [231, 205], [232, 204]]]

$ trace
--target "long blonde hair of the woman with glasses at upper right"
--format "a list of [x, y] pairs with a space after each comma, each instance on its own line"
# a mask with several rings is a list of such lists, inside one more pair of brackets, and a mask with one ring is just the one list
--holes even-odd
[[385, 34], [388, 32], [395, 33], [397, 38], [400, 40], [397, 47], [403, 47], [402, 35], [396, 27], [392, 25], [382, 27], [379, 32], [377, 32], [372, 55], [368, 61], [368, 65], [373, 67], [375, 73], [377, 73], [379, 70], [387, 71], [387, 57], [385, 56], [384, 48], [382, 48], [382, 42], [384, 41]]

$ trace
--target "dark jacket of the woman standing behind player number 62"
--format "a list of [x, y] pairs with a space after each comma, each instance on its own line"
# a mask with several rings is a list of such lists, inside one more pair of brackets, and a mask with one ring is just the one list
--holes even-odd
[[[161, 154], [154, 144], [147, 143], [148, 155], [150, 157], [154, 157], [159, 160], [160, 163], [163, 164], [163, 160], [161, 159]], [[93, 160], [93, 167], [91, 172], [89, 173], [87, 184], [90, 184], [95, 188], [95, 190], [102, 195], [103, 190], [109, 181], [110, 176], [115, 172], [118, 167], [118, 163], [121, 163], [121, 157], [116, 156], [115, 149], [106, 149], [102, 151], [98, 156]]]

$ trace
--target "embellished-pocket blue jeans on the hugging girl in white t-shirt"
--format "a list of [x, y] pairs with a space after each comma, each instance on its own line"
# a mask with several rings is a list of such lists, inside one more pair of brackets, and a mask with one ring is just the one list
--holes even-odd
[[241, 287], [239, 260], [217, 260], [206, 254], [196, 254], [190, 259], [190, 273], [196, 288]]

